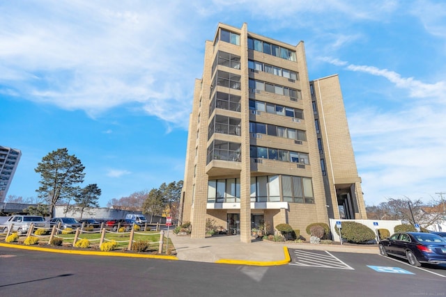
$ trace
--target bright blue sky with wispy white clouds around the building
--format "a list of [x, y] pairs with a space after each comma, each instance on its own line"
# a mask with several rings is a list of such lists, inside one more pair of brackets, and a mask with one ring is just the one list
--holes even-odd
[[0, 145], [8, 195], [36, 197], [67, 147], [112, 198], [183, 179], [203, 49], [218, 22], [297, 45], [339, 74], [366, 204], [446, 191], [444, 1], [1, 1]]

